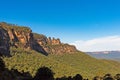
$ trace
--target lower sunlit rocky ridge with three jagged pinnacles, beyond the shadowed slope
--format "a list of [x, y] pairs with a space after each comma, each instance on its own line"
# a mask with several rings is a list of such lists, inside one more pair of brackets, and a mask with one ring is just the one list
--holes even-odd
[[[48, 54], [75, 53], [77, 49], [73, 45], [61, 43], [60, 39], [34, 34], [36, 42], [43, 47]], [[37, 37], [36, 37], [37, 36]]]

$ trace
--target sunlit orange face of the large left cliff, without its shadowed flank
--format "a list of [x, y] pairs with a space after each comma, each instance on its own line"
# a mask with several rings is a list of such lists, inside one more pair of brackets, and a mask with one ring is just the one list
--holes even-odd
[[25, 47], [32, 49], [32, 34], [31, 31], [15, 31], [14, 29], [8, 30], [10, 36], [11, 46]]

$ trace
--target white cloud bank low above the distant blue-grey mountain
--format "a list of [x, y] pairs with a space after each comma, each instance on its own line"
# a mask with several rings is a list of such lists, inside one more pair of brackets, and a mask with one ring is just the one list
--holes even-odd
[[120, 50], [120, 36], [108, 36], [86, 41], [78, 40], [70, 44], [85, 52]]

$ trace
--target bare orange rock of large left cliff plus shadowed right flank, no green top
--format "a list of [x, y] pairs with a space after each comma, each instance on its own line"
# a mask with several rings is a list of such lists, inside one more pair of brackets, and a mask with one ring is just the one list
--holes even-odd
[[14, 29], [8, 32], [13, 46], [24, 47], [46, 54], [44, 49], [34, 40], [33, 33], [30, 29], [27, 32], [24, 30], [16, 31]]

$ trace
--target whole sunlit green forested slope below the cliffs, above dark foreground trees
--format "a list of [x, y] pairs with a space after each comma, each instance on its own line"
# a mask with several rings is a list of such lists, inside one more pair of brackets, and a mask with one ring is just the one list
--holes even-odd
[[98, 60], [82, 52], [64, 55], [44, 56], [40, 53], [22, 48], [11, 48], [12, 57], [4, 57], [8, 69], [17, 69], [35, 75], [37, 69], [46, 66], [53, 70], [55, 77], [81, 74], [85, 78], [103, 76], [106, 73], [115, 75], [120, 72], [120, 63], [109, 60]]

